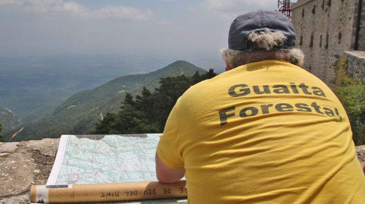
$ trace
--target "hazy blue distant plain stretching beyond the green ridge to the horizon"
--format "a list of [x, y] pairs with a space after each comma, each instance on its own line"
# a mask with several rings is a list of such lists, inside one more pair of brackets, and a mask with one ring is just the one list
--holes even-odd
[[[222, 71], [218, 54], [201, 59], [185, 58], [202, 68]], [[0, 107], [9, 108], [22, 123], [28, 123], [42, 118], [77, 92], [124, 75], [155, 71], [172, 62], [146, 55], [0, 57]]]

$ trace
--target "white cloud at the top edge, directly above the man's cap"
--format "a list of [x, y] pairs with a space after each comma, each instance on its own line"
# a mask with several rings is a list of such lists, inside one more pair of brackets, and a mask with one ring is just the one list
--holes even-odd
[[273, 10], [276, 6], [273, 0], [203, 0], [202, 3], [205, 10], [224, 19], [258, 9]]

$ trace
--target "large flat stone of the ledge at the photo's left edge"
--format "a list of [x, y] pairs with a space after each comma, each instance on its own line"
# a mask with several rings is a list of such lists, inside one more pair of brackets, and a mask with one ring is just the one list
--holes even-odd
[[28, 193], [34, 181], [33, 171], [36, 170], [31, 157], [31, 153], [0, 157], [0, 197]]

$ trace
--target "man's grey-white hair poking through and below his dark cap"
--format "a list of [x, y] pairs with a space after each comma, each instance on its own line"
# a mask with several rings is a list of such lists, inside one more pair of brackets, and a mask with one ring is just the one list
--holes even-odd
[[[248, 50], [220, 49], [220, 55], [223, 60], [229, 63], [232, 68], [261, 60], [283, 59], [297, 66], [301, 66], [304, 62], [304, 54], [300, 49], [280, 48], [287, 40], [287, 37], [281, 31], [270, 31], [267, 29], [264, 31], [254, 31], [247, 38], [255, 43], [255, 47], [251, 47]], [[253, 56], [257, 55], [258, 52], [261, 53], [261, 57]], [[277, 54], [278, 52], [279, 54]], [[280, 59], [277, 59], [278, 56]], [[275, 59], [270, 59], [273, 57]]]

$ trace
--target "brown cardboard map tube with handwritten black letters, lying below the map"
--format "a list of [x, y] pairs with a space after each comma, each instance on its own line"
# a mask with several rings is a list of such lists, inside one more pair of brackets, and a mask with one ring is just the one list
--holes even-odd
[[32, 203], [87, 203], [187, 197], [186, 181], [32, 186]]

